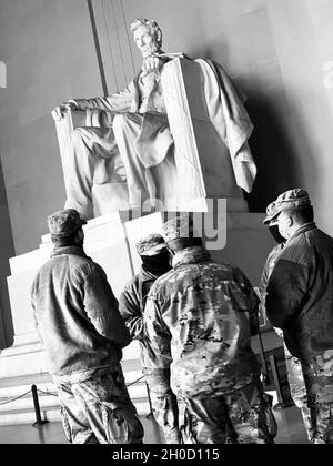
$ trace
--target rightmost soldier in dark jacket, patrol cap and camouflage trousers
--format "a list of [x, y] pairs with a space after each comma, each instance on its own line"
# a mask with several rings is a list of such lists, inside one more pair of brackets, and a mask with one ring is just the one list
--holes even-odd
[[266, 313], [271, 324], [283, 330], [295, 358], [294, 388], [300, 388], [301, 398], [303, 373], [311, 442], [329, 444], [333, 443], [333, 239], [316, 227], [306, 191], [286, 191], [275, 204], [272, 220], [286, 242], [269, 278]]

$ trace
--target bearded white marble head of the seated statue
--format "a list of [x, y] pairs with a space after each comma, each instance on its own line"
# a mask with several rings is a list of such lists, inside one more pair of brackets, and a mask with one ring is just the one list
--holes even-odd
[[161, 50], [162, 31], [157, 21], [138, 19], [131, 24], [131, 31], [143, 59], [147, 59]]

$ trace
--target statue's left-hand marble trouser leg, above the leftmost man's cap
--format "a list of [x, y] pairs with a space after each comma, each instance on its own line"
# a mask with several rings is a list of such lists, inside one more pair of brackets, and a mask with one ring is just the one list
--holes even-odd
[[112, 158], [117, 153], [114, 135], [110, 128], [78, 128], [71, 138], [65, 207], [75, 209], [84, 219], [91, 219], [97, 148], [104, 149], [105, 158]]

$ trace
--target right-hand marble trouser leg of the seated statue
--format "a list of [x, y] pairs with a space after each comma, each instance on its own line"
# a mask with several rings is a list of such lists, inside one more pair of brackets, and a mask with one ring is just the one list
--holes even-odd
[[113, 119], [113, 133], [119, 153], [124, 164], [131, 206], [139, 206], [150, 199], [153, 186], [152, 178], [139, 155], [135, 142], [141, 133], [143, 115], [139, 113], [118, 114]]

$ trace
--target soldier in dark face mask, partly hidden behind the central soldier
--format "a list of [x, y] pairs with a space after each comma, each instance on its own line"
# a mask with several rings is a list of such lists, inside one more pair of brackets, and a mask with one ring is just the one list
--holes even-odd
[[[142, 237], [137, 244], [137, 251], [142, 260], [139, 273], [127, 283], [119, 300], [119, 311], [130, 331], [132, 340], [138, 340], [141, 352], [143, 373], [145, 372], [147, 354], [150, 351], [148, 336], [143, 325], [143, 311], [147, 297], [154, 281], [170, 271], [170, 254], [167, 244], [160, 234], [153, 233]], [[149, 387], [148, 387], [149, 389]], [[154, 413], [160, 413], [161, 399], [155, 393], [150, 393], [151, 407]], [[173, 406], [170, 415], [161, 422], [167, 443], [179, 442], [178, 419], [172, 417], [176, 412], [176, 401], [173, 393], [169, 403]]]

